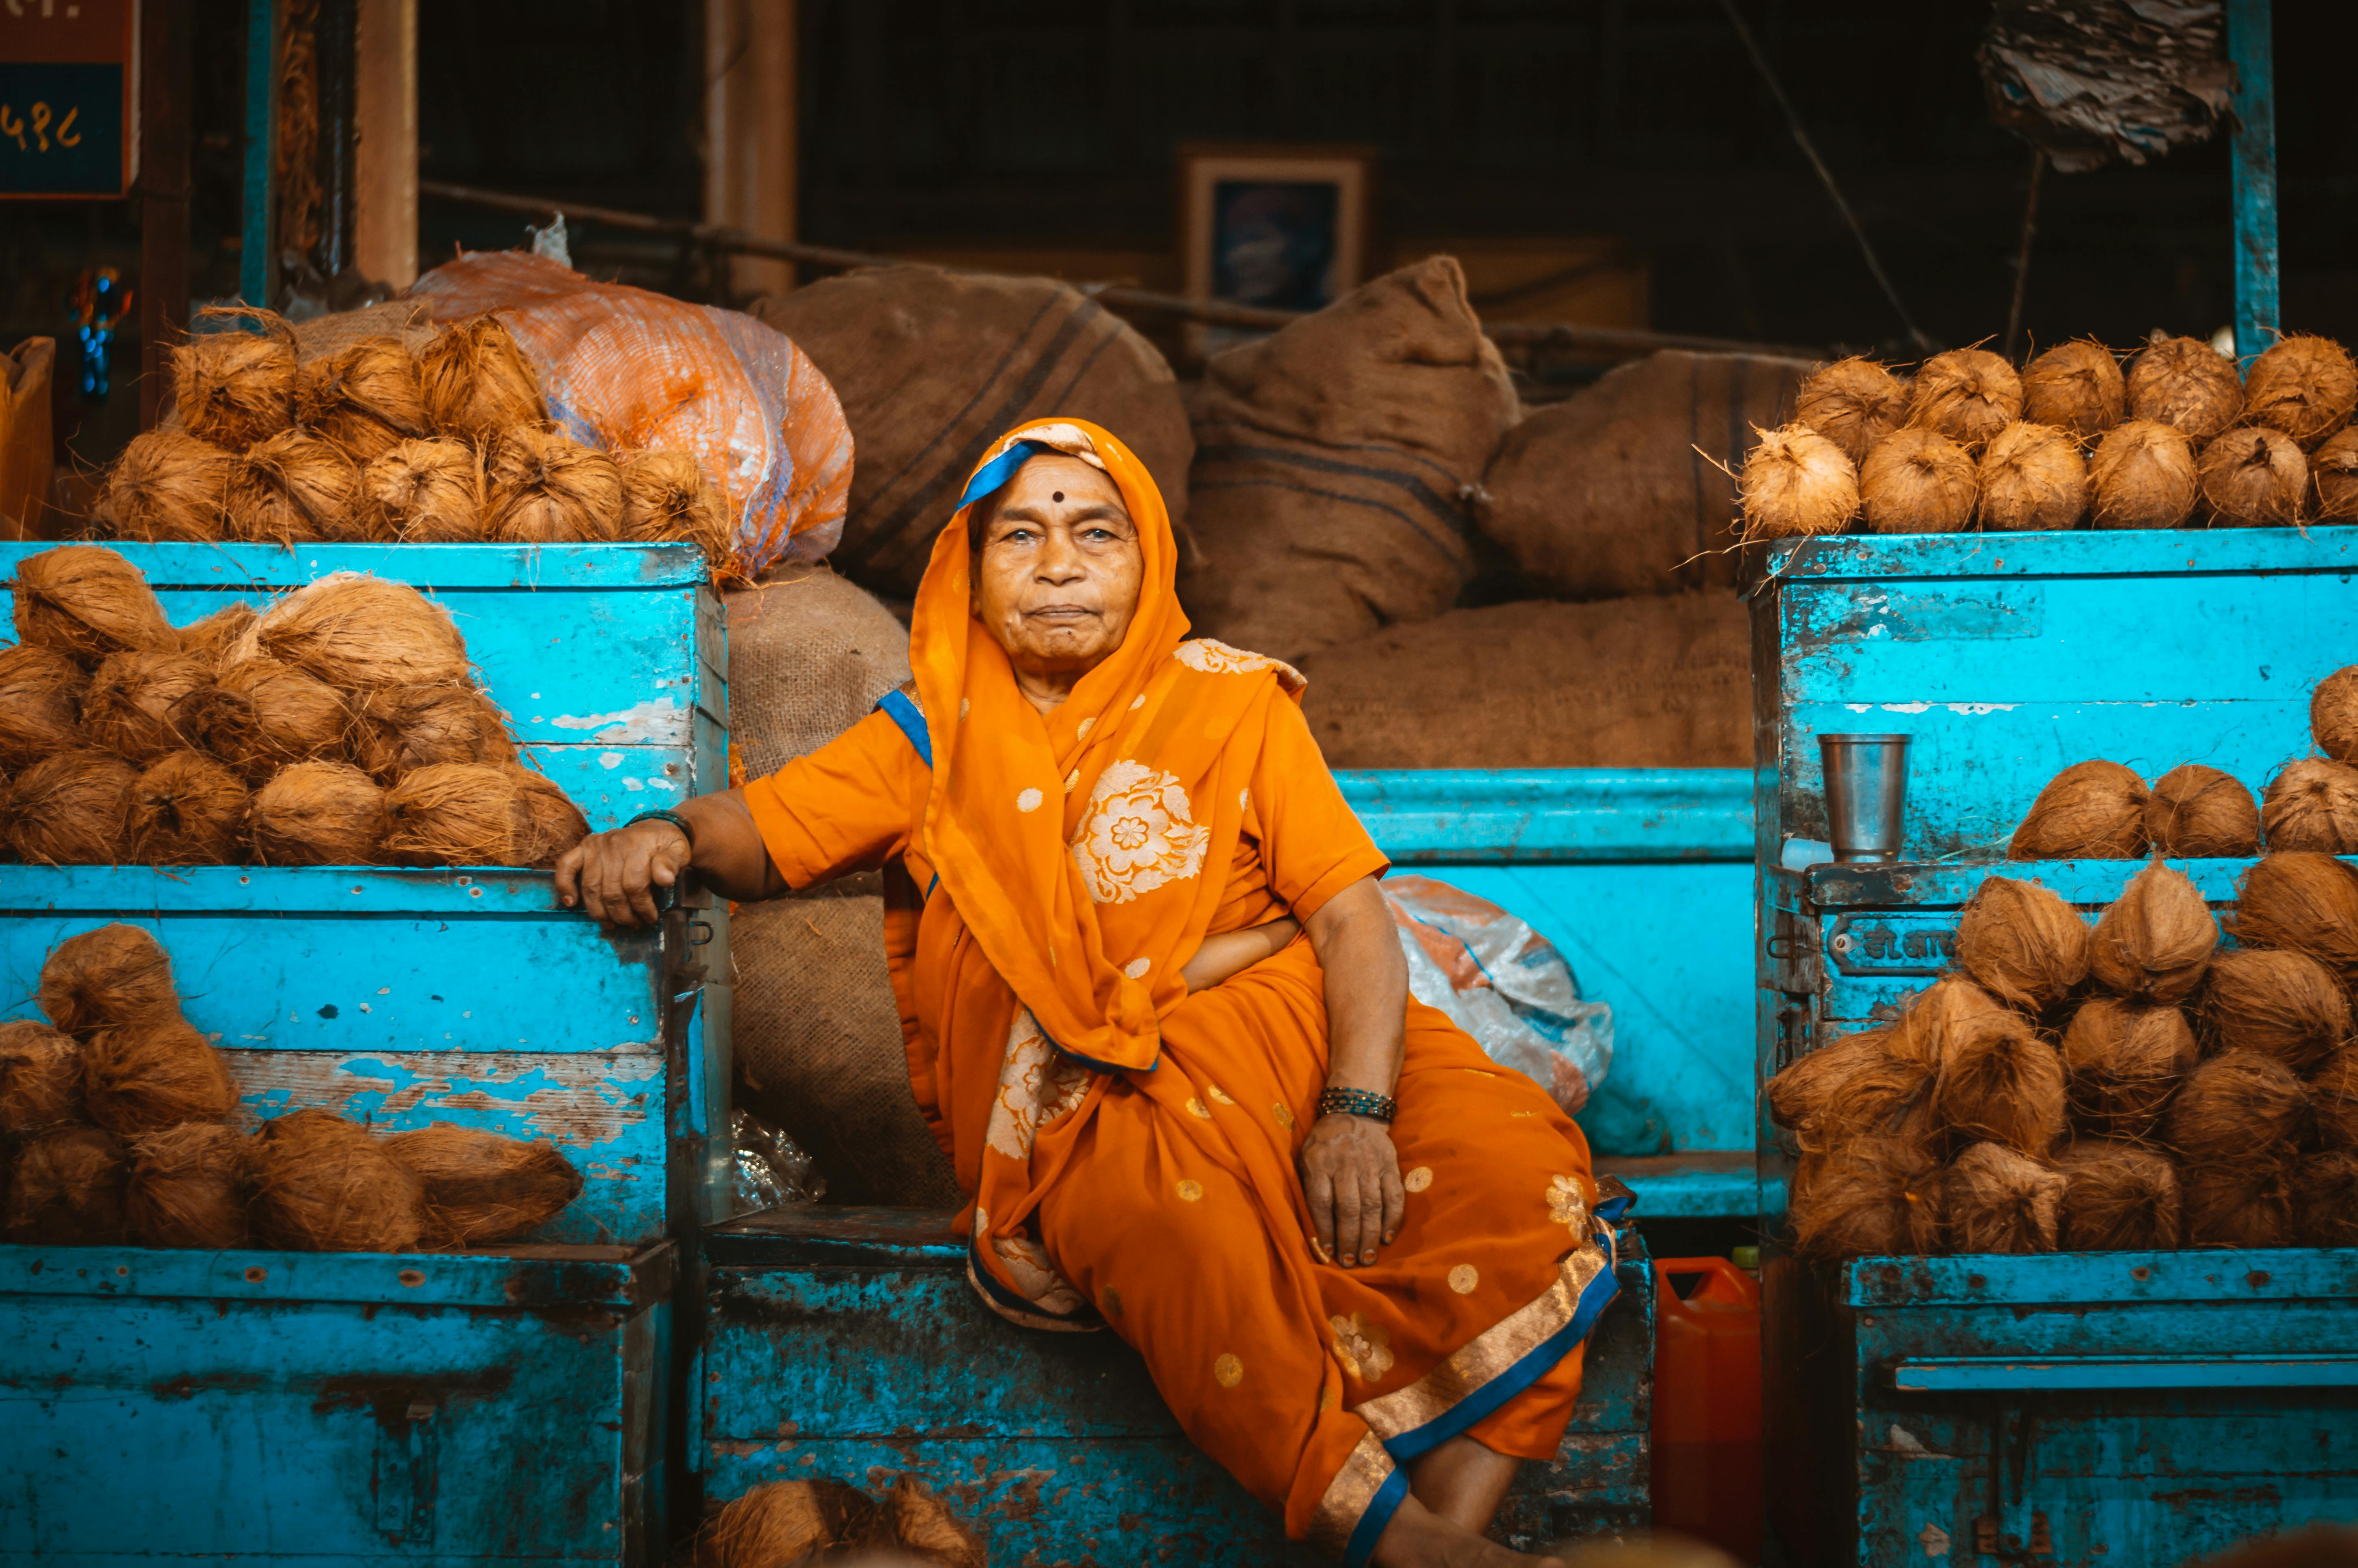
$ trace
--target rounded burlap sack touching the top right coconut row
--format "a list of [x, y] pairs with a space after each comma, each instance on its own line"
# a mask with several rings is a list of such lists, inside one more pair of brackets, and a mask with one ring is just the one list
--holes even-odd
[[1752, 429], [1792, 417], [1811, 368], [1679, 349], [1620, 365], [1514, 427], [1474, 516], [1563, 599], [1735, 587], [1735, 481], [1714, 462], [1743, 472]]

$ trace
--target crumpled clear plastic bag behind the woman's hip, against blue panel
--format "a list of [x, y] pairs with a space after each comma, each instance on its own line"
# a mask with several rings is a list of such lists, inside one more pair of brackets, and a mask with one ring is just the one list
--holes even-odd
[[1408, 990], [1523, 1073], [1566, 1115], [1613, 1063], [1613, 1009], [1582, 1002], [1554, 943], [1521, 917], [1434, 877], [1384, 877], [1384, 903], [1408, 955]]

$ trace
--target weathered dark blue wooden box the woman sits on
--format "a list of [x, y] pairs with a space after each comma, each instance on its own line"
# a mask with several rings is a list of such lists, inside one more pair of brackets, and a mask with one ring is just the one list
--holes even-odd
[[[948, 1221], [778, 1210], [707, 1233], [691, 1452], [710, 1502], [788, 1476], [889, 1485], [920, 1474], [976, 1518], [1002, 1563], [1316, 1561], [1179, 1434], [1120, 1339], [1028, 1332], [990, 1313]], [[1629, 1259], [1563, 1450], [1526, 1467], [1504, 1537], [1646, 1526], [1644, 1278], [1644, 1259]]]

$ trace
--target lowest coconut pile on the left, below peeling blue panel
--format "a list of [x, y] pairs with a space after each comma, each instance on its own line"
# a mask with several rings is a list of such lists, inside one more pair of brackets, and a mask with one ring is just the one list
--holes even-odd
[[554, 1146], [467, 1127], [380, 1137], [292, 1111], [248, 1134], [229, 1061], [139, 927], [61, 941], [38, 1002], [47, 1023], [0, 1023], [12, 1243], [432, 1252], [526, 1236], [582, 1191]]

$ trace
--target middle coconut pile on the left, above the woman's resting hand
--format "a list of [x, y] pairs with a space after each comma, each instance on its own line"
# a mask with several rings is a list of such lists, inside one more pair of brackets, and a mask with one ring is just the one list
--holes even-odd
[[450, 613], [337, 573], [172, 627], [99, 545], [17, 566], [0, 846], [33, 865], [554, 865], [590, 823], [526, 769]]

